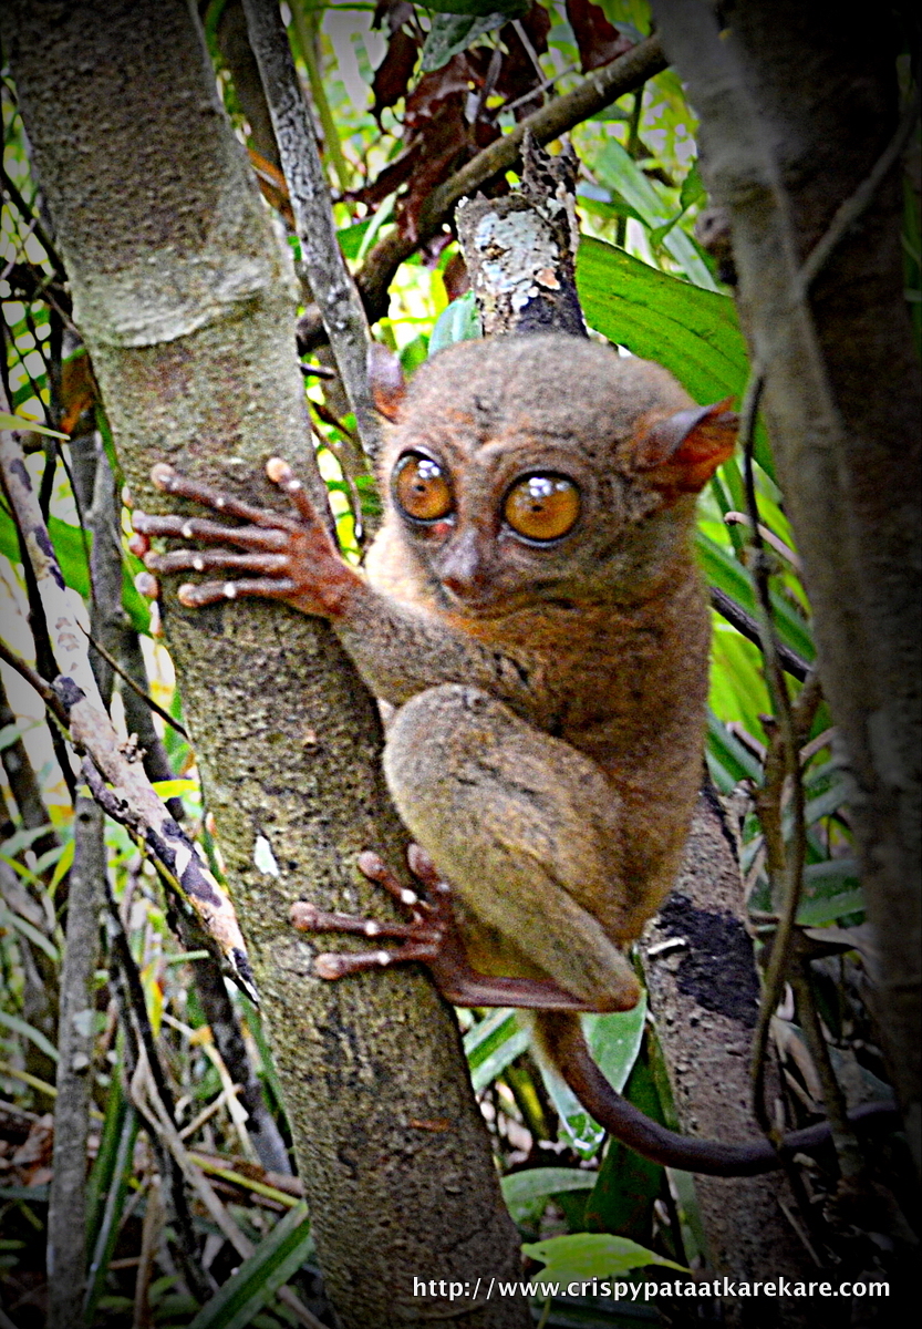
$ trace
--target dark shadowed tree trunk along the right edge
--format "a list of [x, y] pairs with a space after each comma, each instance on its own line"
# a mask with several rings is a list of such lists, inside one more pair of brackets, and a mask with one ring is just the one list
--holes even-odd
[[654, 5], [732, 221], [739, 307], [841, 728], [881, 1035], [919, 1159], [919, 365], [903, 299], [899, 159], [804, 292], [800, 267], [897, 128], [886, 15], [745, 0]]

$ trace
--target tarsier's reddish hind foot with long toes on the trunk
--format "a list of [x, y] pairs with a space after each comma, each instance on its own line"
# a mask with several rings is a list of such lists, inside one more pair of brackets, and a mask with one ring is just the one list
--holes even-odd
[[571, 1011], [590, 1009], [550, 979], [494, 977], [473, 969], [452, 910], [450, 885], [418, 845], [409, 847], [407, 861], [424, 894], [404, 886], [379, 855], [371, 851], [359, 855], [361, 874], [384, 886], [409, 912], [409, 922], [328, 913], [303, 901], [291, 906], [291, 922], [300, 932], [340, 932], [353, 937], [380, 937], [401, 942], [399, 946], [371, 952], [324, 952], [314, 960], [314, 973], [319, 978], [344, 978], [347, 974], [417, 961], [429, 968], [442, 997], [456, 1006], [519, 1006]]

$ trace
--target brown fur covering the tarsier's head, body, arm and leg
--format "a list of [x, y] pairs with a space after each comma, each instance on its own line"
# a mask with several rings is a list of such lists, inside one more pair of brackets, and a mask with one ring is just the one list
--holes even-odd
[[[385, 772], [454, 888], [477, 968], [550, 977], [599, 1006], [634, 990], [614, 953], [671, 888], [701, 773], [709, 622], [693, 497], [658, 488], [650, 466], [656, 424], [691, 405], [659, 365], [574, 338], [441, 354], [397, 412], [367, 560], [371, 585], [420, 630], [391, 638], [379, 619], [372, 641], [367, 623], [340, 625], [380, 696], [415, 698]], [[391, 497], [408, 449], [450, 474], [448, 528], [415, 528]], [[713, 465], [727, 451], [724, 432]], [[529, 470], [581, 489], [577, 528], [551, 545], [501, 520]]]

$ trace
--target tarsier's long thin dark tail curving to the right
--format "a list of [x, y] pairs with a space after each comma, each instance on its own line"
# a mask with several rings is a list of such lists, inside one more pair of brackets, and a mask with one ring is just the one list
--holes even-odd
[[[583, 1104], [615, 1139], [643, 1158], [684, 1172], [708, 1176], [756, 1176], [784, 1166], [794, 1154], [810, 1152], [830, 1139], [828, 1122], [785, 1135], [779, 1148], [769, 1140], [721, 1144], [719, 1140], [676, 1135], [644, 1116], [618, 1094], [593, 1061], [579, 1017], [559, 1011], [535, 1011], [534, 1027], [545, 1055]], [[849, 1114], [853, 1126], [893, 1127], [899, 1115], [893, 1103], [866, 1103]]]

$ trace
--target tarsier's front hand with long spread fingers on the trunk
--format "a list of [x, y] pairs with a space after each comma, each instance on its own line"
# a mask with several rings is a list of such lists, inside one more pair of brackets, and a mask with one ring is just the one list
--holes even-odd
[[[225, 571], [234, 578], [181, 586], [178, 598], [190, 609], [222, 599], [260, 595], [282, 599], [306, 614], [340, 617], [349, 593], [360, 583], [360, 577], [341, 558], [323, 514], [288, 464], [271, 457], [266, 464], [266, 474], [286, 492], [296, 516], [255, 508], [189, 480], [173, 466], [159, 462], [153, 468], [150, 478], [163, 493], [191, 498], [222, 517], [236, 517], [246, 525], [223, 526], [202, 517], [153, 517], [136, 512], [133, 553], [153, 573]], [[150, 548], [151, 536], [195, 540], [203, 545], [232, 545], [243, 552], [215, 548], [157, 553]]]

